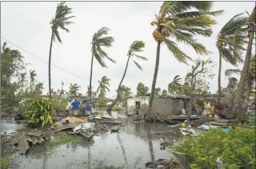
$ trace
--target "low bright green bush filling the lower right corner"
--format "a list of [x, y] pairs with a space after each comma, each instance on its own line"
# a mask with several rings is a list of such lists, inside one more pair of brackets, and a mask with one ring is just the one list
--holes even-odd
[[255, 130], [238, 127], [225, 133], [222, 128], [212, 129], [194, 138], [184, 137], [174, 151], [185, 155], [192, 169], [216, 168], [218, 157], [223, 168], [254, 168]]

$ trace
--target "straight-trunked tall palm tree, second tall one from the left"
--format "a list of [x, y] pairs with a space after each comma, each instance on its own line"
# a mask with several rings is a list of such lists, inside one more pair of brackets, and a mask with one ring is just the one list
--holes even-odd
[[90, 86], [89, 86], [89, 100], [91, 103], [91, 81], [93, 77], [93, 66], [94, 66], [94, 57], [98, 61], [99, 65], [103, 68], [107, 68], [106, 63], [103, 59], [108, 59], [111, 62], [115, 63], [113, 59], [107, 56], [107, 53], [102, 49], [102, 47], [111, 47], [112, 43], [114, 42], [113, 37], [103, 37], [103, 35], [107, 35], [110, 29], [107, 27], [103, 27], [99, 29], [97, 33], [94, 33], [93, 40], [91, 42], [91, 62], [90, 62]]

